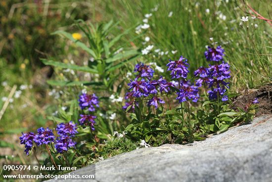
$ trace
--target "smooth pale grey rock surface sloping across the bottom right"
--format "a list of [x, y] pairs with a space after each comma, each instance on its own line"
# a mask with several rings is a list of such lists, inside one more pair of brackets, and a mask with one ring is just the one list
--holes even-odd
[[[94, 166], [89, 166], [72, 173], [90, 174], [93, 170]], [[95, 164], [95, 179], [97, 182], [272, 182], [272, 117], [257, 118], [250, 124], [193, 144], [143, 148], [100, 161]]]

